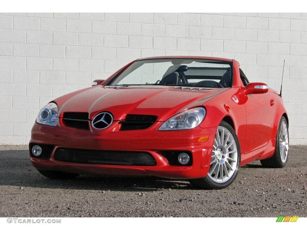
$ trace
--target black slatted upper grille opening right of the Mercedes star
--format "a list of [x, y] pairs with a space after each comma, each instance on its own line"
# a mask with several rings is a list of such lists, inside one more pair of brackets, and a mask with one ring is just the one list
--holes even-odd
[[153, 115], [134, 115], [128, 114], [121, 124], [120, 130], [135, 130], [149, 128], [156, 120], [157, 116]]

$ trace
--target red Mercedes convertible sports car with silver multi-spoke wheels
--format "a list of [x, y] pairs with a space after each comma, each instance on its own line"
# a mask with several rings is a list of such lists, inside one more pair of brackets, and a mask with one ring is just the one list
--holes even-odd
[[249, 83], [235, 60], [142, 58], [95, 83], [39, 112], [29, 151], [44, 176], [157, 176], [221, 189], [251, 161], [286, 165], [281, 95]]

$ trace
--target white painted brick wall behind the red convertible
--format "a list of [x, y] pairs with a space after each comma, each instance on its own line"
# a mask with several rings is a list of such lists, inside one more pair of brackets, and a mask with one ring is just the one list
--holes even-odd
[[39, 109], [148, 56], [235, 58], [280, 88], [307, 144], [307, 13], [0, 13], [0, 144], [27, 144]]

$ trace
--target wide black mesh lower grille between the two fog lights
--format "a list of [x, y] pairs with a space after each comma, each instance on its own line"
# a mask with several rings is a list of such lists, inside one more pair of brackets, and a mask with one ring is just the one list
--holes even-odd
[[58, 161], [84, 164], [130, 166], [154, 166], [157, 164], [156, 160], [150, 153], [137, 151], [103, 151], [58, 148], [56, 149], [54, 159]]

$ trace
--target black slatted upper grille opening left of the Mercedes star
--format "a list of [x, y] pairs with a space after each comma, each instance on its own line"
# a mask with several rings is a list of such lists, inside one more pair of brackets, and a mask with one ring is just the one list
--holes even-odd
[[63, 114], [63, 123], [67, 127], [89, 130], [88, 113], [67, 112]]

